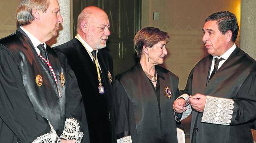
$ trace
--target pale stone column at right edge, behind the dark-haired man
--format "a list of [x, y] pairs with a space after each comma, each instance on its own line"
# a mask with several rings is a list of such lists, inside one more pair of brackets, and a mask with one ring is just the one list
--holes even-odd
[[241, 49], [256, 59], [256, 0], [241, 0]]

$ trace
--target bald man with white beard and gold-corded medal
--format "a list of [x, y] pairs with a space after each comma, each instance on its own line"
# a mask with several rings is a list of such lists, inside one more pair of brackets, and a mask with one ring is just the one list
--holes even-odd
[[78, 16], [77, 35], [54, 49], [62, 52], [74, 71], [84, 101], [92, 143], [113, 143], [113, 61], [103, 49], [110, 35], [106, 12], [86, 7]]

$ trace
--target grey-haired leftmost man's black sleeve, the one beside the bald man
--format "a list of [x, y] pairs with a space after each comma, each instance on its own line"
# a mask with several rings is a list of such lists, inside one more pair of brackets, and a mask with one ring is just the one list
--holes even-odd
[[[89, 143], [89, 131], [88, 131], [88, 125], [86, 120], [85, 108], [82, 102], [81, 92], [77, 84], [77, 78], [73, 70], [69, 66], [69, 63], [67, 61], [67, 58], [65, 57], [65, 54], [63, 54], [60, 50], [57, 50], [57, 49], [54, 49], [54, 50], [57, 53], [58, 57], [60, 58], [62, 64], [64, 64], [64, 67], [66, 70], [65, 118], [68, 120], [69, 119], [76, 120], [78, 126], [80, 127], [79, 131], [83, 133], [83, 138], [81, 140], [81, 143]], [[68, 124], [69, 123], [66, 121], [65, 129], [68, 128]], [[62, 134], [61, 138], [63, 138], [64, 136], [67, 139], [73, 138], [73, 136], [69, 136], [67, 134]], [[77, 139], [77, 140], [80, 140], [80, 139]]]

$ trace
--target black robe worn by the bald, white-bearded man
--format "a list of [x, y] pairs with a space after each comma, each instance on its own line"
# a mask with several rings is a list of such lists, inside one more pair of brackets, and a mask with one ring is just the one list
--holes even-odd
[[98, 62], [101, 66], [102, 84], [105, 93], [98, 92], [98, 74], [95, 64], [85, 47], [76, 38], [54, 47], [67, 57], [74, 71], [88, 122], [91, 143], [114, 143], [114, 115], [112, 100], [113, 61], [105, 50], [98, 50]]

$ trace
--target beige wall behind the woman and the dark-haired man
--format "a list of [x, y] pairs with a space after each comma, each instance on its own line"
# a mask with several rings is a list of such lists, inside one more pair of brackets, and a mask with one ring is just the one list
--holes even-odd
[[[142, 27], [154, 26], [171, 36], [164, 66], [179, 76], [184, 89], [188, 74], [207, 55], [202, 42], [202, 27], [208, 15], [230, 11], [240, 24], [240, 0], [142, 0]], [[153, 20], [159, 12], [159, 20]], [[239, 37], [237, 45], [239, 46]]]

